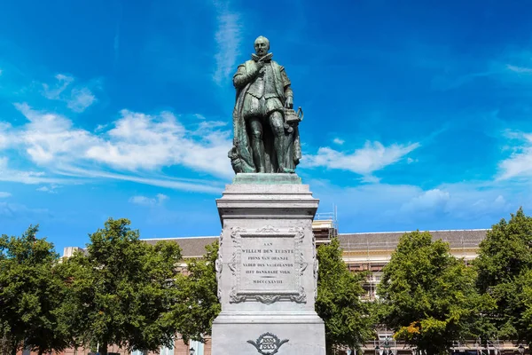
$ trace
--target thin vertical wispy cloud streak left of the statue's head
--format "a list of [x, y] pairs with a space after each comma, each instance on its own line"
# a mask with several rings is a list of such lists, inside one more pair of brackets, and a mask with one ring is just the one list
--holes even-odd
[[231, 76], [235, 69], [241, 42], [242, 19], [239, 13], [221, 9], [218, 13], [218, 28], [215, 33], [217, 52], [215, 54], [216, 69], [213, 79], [221, 84]]

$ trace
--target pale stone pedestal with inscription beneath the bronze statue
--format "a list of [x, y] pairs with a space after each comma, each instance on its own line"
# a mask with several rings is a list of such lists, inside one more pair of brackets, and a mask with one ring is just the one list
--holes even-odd
[[294, 174], [238, 174], [216, 204], [222, 312], [212, 354], [325, 355], [309, 185]]

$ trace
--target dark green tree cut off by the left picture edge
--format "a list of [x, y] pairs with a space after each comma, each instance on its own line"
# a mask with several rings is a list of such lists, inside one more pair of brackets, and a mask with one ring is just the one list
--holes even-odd
[[62, 351], [71, 336], [62, 323], [65, 285], [53, 245], [30, 226], [20, 237], [0, 237], [0, 338], [12, 351]]

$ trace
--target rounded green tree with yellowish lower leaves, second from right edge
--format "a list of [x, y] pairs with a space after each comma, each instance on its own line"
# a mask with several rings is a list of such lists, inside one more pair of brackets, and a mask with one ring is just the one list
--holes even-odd
[[383, 323], [395, 338], [438, 354], [473, 331], [480, 303], [473, 268], [428, 232], [405, 233], [378, 287]]

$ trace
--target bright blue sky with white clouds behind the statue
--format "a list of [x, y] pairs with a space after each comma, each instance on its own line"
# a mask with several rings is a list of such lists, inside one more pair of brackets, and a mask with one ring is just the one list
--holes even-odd
[[340, 233], [487, 228], [532, 208], [525, 1], [8, 2], [0, 233], [59, 252], [107, 217], [217, 235], [231, 76], [256, 36], [302, 106], [298, 174]]

